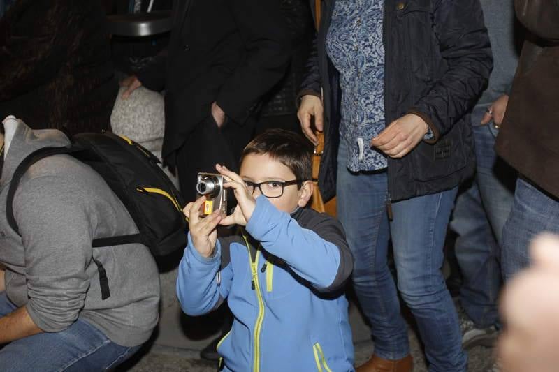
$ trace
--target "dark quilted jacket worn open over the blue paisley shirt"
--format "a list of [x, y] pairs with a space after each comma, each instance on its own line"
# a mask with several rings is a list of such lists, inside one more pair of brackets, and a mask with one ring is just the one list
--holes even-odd
[[[324, 89], [327, 120], [319, 185], [335, 195], [340, 141], [339, 73], [326, 54], [334, 0], [323, 1], [316, 50], [307, 64], [300, 96]], [[389, 158], [389, 193], [402, 200], [453, 188], [474, 172], [468, 112], [492, 68], [491, 47], [479, 0], [386, 0], [384, 13], [386, 124], [419, 115], [435, 137], [407, 156]]]

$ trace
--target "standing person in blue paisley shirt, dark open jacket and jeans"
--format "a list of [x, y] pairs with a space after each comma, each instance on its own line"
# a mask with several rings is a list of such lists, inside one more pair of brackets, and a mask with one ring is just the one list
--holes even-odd
[[354, 288], [372, 325], [375, 354], [358, 371], [412, 371], [400, 292], [429, 371], [465, 372], [440, 268], [458, 185], [475, 170], [468, 112], [492, 67], [479, 0], [321, 3], [298, 117], [312, 142], [313, 117], [325, 130], [320, 191], [324, 200], [337, 195]]

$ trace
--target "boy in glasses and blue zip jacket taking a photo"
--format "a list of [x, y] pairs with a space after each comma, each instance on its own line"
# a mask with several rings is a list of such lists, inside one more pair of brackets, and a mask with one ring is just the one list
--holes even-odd
[[[305, 205], [312, 195], [312, 147], [270, 130], [241, 155], [240, 174], [216, 165], [238, 205], [201, 218], [205, 198], [184, 208], [188, 246], [177, 295], [189, 315], [228, 298], [235, 320], [217, 345], [222, 371], [354, 371], [343, 285], [353, 256], [342, 225]], [[240, 235], [217, 239], [217, 225]]]

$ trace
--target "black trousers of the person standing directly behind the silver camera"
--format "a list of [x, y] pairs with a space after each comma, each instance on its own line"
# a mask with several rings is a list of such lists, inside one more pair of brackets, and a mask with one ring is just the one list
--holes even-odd
[[210, 114], [194, 128], [176, 157], [180, 191], [186, 202], [196, 200], [198, 172], [216, 173], [216, 163], [239, 171], [240, 154], [252, 139], [255, 124], [252, 118], [242, 125], [228, 119], [218, 128]]

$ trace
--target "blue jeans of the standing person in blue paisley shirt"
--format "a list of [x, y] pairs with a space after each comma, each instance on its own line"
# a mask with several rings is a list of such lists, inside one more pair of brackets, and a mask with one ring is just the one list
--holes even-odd
[[398, 290], [419, 326], [430, 371], [465, 371], [467, 357], [458, 315], [441, 272], [456, 188], [394, 202], [389, 222], [386, 172], [349, 172], [346, 156], [347, 144], [342, 140], [337, 159], [337, 216], [354, 254], [354, 288], [372, 325], [375, 355], [400, 359], [409, 354], [407, 325], [387, 265], [391, 237]]

